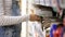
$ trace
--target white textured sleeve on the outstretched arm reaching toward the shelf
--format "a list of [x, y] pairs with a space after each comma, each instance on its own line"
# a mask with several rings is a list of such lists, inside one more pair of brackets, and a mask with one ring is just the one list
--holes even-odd
[[28, 16], [0, 16], [0, 26], [20, 24], [27, 21]]

